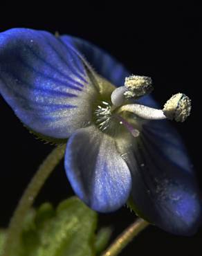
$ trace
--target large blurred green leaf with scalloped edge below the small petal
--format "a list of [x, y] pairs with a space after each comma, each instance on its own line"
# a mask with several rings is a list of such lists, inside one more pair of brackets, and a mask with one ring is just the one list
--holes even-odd
[[[28, 215], [19, 256], [93, 256], [97, 214], [76, 197]], [[18, 255], [15, 255], [18, 256]]]

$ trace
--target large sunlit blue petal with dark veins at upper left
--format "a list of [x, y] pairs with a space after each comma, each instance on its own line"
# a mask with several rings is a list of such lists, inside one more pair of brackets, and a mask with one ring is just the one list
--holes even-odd
[[26, 126], [53, 138], [89, 122], [97, 93], [71, 44], [24, 28], [0, 34], [0, 91]]

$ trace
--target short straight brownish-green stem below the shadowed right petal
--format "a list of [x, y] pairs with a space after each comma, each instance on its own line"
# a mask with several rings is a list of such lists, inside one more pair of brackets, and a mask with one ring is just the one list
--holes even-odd
[[129, 242], [136, 237], [143, 229], [145, 229], [149, 223], [143, 219], [137, 219], [132, 223], [117, 239], [105, 250], [102, 256], [116, 256], [122, 251]]

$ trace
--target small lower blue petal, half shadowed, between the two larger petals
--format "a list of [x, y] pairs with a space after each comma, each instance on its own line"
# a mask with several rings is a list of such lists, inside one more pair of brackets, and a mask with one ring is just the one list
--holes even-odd
[[116, 143], [96, 127], [79, 129], [69, 138], [65, 169], [77, 196], [93, 210], [120, 208], [131, 191], [129, 168]]

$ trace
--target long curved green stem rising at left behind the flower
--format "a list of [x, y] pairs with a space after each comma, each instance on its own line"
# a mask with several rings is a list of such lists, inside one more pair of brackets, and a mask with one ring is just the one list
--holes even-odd
[[17, 246], [20, 241], [20, 235], [22, 230], [22, 223], [26, 217], [26, 213], [33, 205], [37, 194], [42, 189], [46, 179], [50, 176], [51, 172], [55, 169], [55, 166], [62, 160], [64, 156], [66, 145], [58, 146], [53, 149], [47, 156], [42, 165], [33, 176], [33, 179], [28, 184], [24, 194], [17, 205], [17, 208], [10, 220], [8, 227], [8, 233], [6, 238], [6, 244], [3, 250], [2, 256], [11, 256], [12, 252], [17, 255]]

